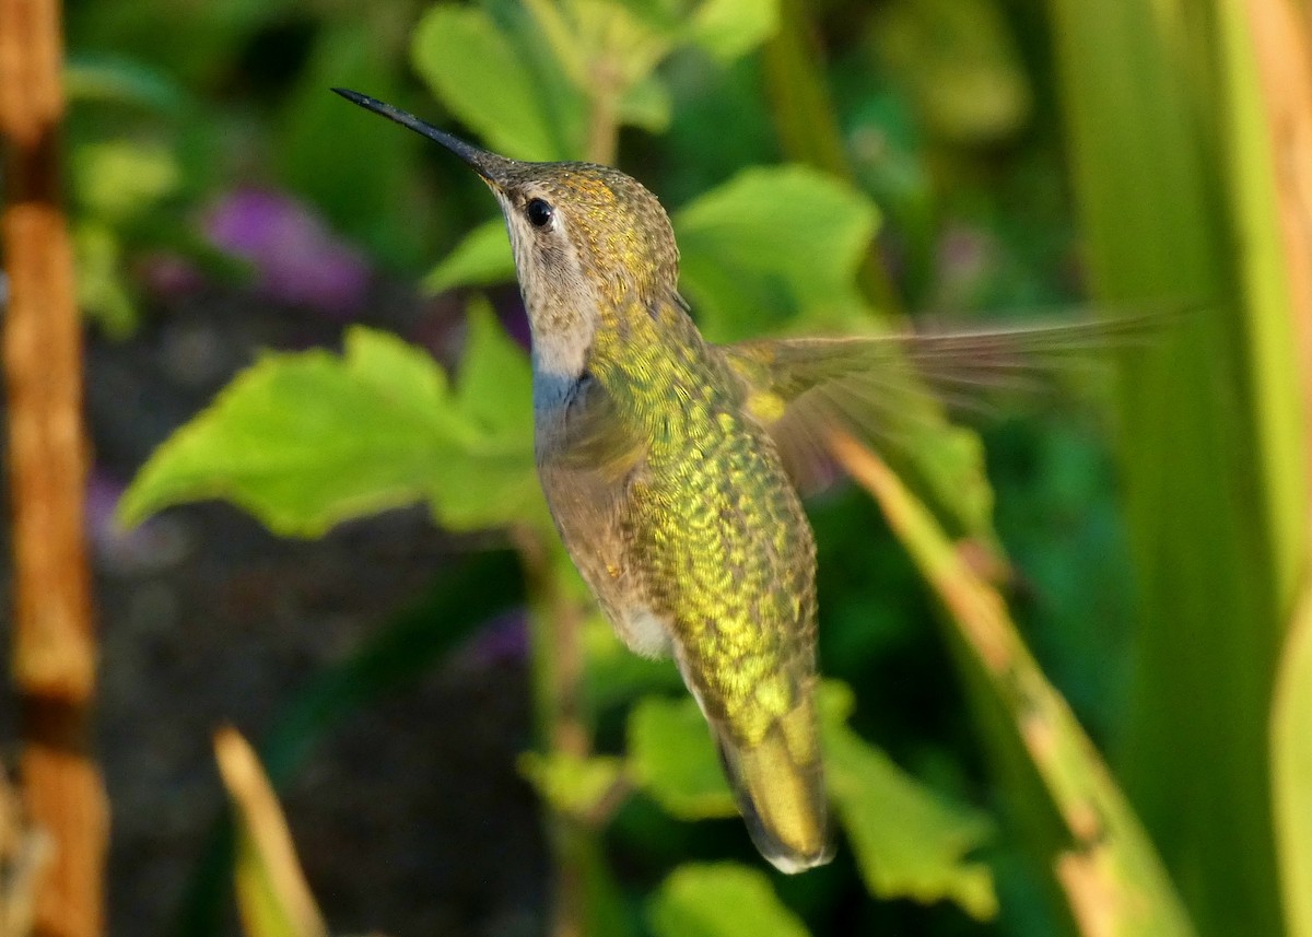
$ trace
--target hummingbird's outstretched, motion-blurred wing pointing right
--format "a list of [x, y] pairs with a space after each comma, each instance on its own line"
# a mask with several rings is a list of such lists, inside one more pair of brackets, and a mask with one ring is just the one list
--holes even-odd
[[747, 406], [774, 437], [803, 491], [834, 475], [825, 436], [853, 432], [884, 449], [950, 411], [989, 411], [1051, 395], [1099, 352], [1141, 341], [1161, 316], [842, 339], [770, 339], [723, 348]]

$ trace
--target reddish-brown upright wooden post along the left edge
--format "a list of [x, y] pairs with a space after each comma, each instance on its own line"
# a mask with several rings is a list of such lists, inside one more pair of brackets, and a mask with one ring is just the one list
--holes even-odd
[[96, 643], [83, 529], [81, 331], [60, 205], [60, 45], [58, 0], [0, 0], [13, 678], [24, 798], [55, 846], [37, 886], [34, 933], [93, 937], [102, 930], [108, 823], [89, 753]]

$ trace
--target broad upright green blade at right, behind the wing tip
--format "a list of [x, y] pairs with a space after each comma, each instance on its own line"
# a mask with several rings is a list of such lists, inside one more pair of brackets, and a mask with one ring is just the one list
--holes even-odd
[[1244, 4], [1050, 8], [1098, 298], [1207, 306], [1123, 382], [1141, 618], [1122, 774], [1199, 930], [1278, 933], [1262, 766], [1307, 467]]

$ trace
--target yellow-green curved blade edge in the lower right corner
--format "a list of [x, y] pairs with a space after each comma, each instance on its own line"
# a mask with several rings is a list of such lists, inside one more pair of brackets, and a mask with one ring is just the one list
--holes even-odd
[[1284, 639], [1271, 707], [1275, 841], [1290, 937], [1312, 937], [1312, 584]]

